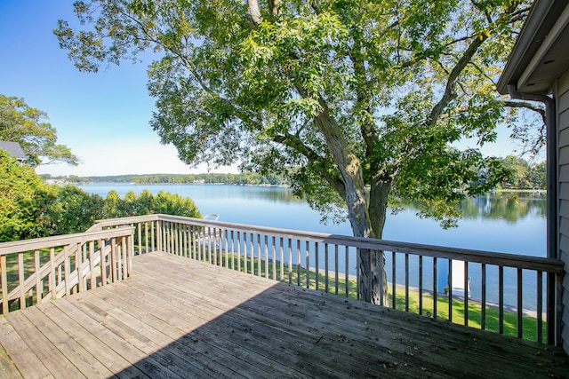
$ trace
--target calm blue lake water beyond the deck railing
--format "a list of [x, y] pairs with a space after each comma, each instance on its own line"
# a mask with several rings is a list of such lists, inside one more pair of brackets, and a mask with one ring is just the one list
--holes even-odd
[[[239, 224], [263, 225], [309, 232], [351, 235], [349, 222], [339, 225], [320, 223], [320, 214], [309, 208], [306, 201], [295, 198], [290, 188], [225, 185], [132, 185], [92, 183], [81, 185], [88, 193], [106, 196], [115, 190], [121, 197], [132, 191], [150, 193], [159, 191], [178, 193], [191, 198], [202, 215], [217, 213], [220, 221]], [[444, 230], [437, 221], [416, 216], [417, 209], [409, 206], [396, 215], [389, 214], [383, 232], [386, 240], [424, 243], [464, 249], [498, 251], [534, 257], [546, 256], [546, 197], [540, 193], [490, 193], [469, 198], [461, 203], [464, 217], [459, 226]], [[413, 259], [411, 260], [413, 265]], [[428, 261], [425, 265], [429, 267]], [[389, 265], [389, 262], [388, 262]], [[448, 263], [439, 260], [437, 288], [446, 286]], [[389, 272], [389, 266], [388, 272]], [[403, 265], [397, 259], [397, 282], [404, 280]], [[400, 269], [400, 270], [399, 270]], [[472, 297], [480, 297], [479, 265], [469, 265]], [[354, 268], [350, 268], [350, 272]], [[431, 270], [432, 271], [432, 270]], [[416, 272], [416, 269], [415, 269]], [[496, 270], [497, 272], [497, 270]], [[413, 273], [413, 272], [412, 272]], [[489, 269], [488, 286], [496, 284], [497, 273]], [[426, 270], [423, 282], [426, 288], [432, 283], [432, 272]], [[516, 304], [516, 275], [505, 272], [506, 303]], [[413, 275], [411, 285], [417, 285]], [[495, 291], [489, 290], [488, 301], [497, 302]], [[511, 296], [510, 296], [511, 295]], [[524, 277], [524, 307], [534, 308], [535, 279]]]

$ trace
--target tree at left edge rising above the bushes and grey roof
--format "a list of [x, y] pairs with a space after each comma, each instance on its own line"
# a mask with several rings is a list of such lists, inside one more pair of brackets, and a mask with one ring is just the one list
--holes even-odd
[[66, 162], [72, 166], [77, 157], [68, 146], [58, 145], [56, 130], [47, 114], [29, 107], [24, 99], [0, 94], [0, 140], [18, 142], [32, 166]]

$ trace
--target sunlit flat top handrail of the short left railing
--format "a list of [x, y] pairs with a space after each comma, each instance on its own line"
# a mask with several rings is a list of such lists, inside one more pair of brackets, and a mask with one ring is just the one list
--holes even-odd
[[94, 241], [105, 238], [124, 237], [131, 235], [133, 231], [133, 226], [122, 226], [116, 229], [54, 235], [52, 237], [34, 238], [22, 241], [0, 242], [0, 256], [37, 249], [49, 249], [58, 246], [71, 245], [82, 241]]

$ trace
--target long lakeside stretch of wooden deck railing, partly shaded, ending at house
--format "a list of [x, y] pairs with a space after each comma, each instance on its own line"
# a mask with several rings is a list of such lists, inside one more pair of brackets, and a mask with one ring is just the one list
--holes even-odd
[[[102, 220], [99, 225], [135, 226], [136, 253], [162, 250], [351, 297], [359, 296], [359, 252], [380, 252], [384, 259], [378, 260], [379, 271], [386, 273], [388, 283], [381, 290], [389, 294], [389, 304], [383, 305], [538, 342], [561, 343], [564, 268], [557, 259], [166, 215]], [[458, 289], [453, 276], [461, 277]], [[379, 281], [382, 287], [383, 280]]]

